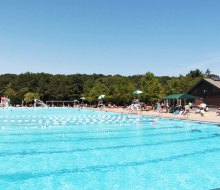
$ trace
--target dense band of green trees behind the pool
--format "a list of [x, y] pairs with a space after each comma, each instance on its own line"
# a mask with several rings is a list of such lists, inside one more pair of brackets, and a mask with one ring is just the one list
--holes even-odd
[[[121, 76], [101, 74], [52, 75], [47, 73], [23, 73], [0, 75], [0, 96], [9, 97], [11, 104], [31, 101], [30, 94], [41, 100], [79, 100], [81, 96], [88, 103], [97, 102], [99, 95], [117, 105], [129, 104], [135, 90], [142, 90], [140, 99], [146, 103], [156, 102], [172, 93], [184, 93], [198, 80], [213, 76], [209, 70], [205, 73], [196, 69], [178, 77], [145, 75]], [[30, 96], [31, 97], [31, 96]], [[32, 98], [33, 99], [33, 98]]]

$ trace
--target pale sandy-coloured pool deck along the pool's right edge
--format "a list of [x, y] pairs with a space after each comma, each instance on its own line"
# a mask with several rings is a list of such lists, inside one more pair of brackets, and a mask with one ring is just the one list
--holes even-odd
[[[97, 109], [96, 109], [97, 110]], [[158, 113], [157, 111], [142, 111], [137, 113], [137, 111], [131, 111], [122, 108], [103, 108], [102, 111], [108, 112], [116, 112], [116, 113], [123, 113], [123, 114], [139, 114], [151, 117], [163, 117], [163, 118], [172, 118], [172, 119], [179, 119], [179, 120], [189, 120], [189, 121], [198, 121], [198, 122], [208, 122], [208, 123], [216, 123], [220, 124], [220, 115], [216, 115], [216, 112], [209, 111], [206, 112], [206, 116], [201, 116], [200, 114], [196, 114], [195, 112], [190, 112], [187, 116], [178, 116], [173, 115], [171, 113]]]

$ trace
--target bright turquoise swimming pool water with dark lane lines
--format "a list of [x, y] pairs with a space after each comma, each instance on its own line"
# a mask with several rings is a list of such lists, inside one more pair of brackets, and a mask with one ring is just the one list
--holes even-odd
[[220, 187], [219, 125], [21, 108], [0, 126], [0, 189]]

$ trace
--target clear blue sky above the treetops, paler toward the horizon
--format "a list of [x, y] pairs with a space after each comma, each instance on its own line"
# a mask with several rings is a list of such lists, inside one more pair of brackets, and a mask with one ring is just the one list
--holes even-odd
[[0, 74], [220, 74], [219, 0], [0, 0]]

